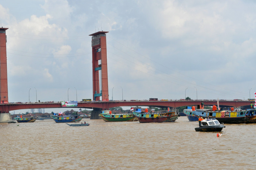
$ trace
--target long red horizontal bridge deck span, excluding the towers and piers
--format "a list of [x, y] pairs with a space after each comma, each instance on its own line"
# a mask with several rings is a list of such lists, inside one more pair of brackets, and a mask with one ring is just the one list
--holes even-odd
[[[122, 106], [152, 106], [152, 107], [181, 107], [181, 106], [197, 106], [202, 101], [193, 100], [174, 100], [174, 101], [95, 101], [95, 102], [78, 102], [77, 107], [88, 108], [88, 109], [109, 109], [111, 107], [122, 107]], [[217, 100], [203, 100], [204, 105], [213, 106], [217, 105]], [[251, 101], [241, 100], [224, 100], [219, 101], [219, 105], [229, 107], [240, 107], [248, 106]], [[35, 109], [35, 108], [63, 108], [60, 102], [55, 103], [8, 103], [0, 104], [0, 110], [3, 112], [19, 110], [19, 109]]]

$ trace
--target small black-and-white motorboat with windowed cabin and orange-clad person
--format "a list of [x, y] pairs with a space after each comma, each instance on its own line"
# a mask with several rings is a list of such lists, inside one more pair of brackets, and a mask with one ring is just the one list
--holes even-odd
[[201, 121], [201, 126], [196, 127], [196, 132], [221, 132], [224, 124], [217, 119], [204, 119]]

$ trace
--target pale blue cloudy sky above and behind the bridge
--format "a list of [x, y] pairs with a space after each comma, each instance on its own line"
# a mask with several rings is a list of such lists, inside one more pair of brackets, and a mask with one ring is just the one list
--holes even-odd
[[9, 102], [92, 99], [89, 34], [101, 30], [109, 99], [254, 98], [255, 8], [252, 0], [2, 1]]

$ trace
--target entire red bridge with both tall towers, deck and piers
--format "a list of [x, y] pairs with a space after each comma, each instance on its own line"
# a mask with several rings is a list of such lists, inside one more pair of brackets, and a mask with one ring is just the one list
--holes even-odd
[[[11, 119], [9, 111], [32, 108], [63, 108], [61, 103], [9, 103], [7, 86], [6, 30], [0, 28], [0, 123]], [[107, 31], [98, 31], [92, 36], [93, 101], [78, 102], [79, 108], [93, 109], [91, 119], [99, 119], [103, 109], [121, 106], [180, 107], [200, 105], [201, 101], [109, 101], [107, 73]], [[217, 101], [204, 100], [204, 105], [217, 105]], [[219, 101], [220, 105], [239, 107], [250, 105], [251, 101]]]

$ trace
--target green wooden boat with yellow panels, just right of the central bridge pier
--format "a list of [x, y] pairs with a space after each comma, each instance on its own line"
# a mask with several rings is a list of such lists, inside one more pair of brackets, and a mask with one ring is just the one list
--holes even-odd
[[101, 111], [99, 116], [101, 116], [101, 119], [106, 122], [138, 121], [138, 119], [132, 113], [130, 113], [130, 111], [123, 114], [112, 114], [112, 111]]

